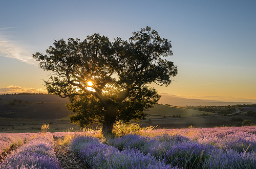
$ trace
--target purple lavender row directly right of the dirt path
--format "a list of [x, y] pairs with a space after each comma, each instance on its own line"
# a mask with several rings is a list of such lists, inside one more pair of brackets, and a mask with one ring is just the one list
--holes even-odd
[[166, 165], [165, 162], [143, 154], [138, 150], [118, 149], [102, 144], [98, 139], [79, 136], [72, 140], [71, 150], [84, 162], [88, 168], [178, 168]]

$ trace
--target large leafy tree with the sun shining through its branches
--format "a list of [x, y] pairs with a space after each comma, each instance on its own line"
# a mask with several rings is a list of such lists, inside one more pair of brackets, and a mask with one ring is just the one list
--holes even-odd
[[168, 86], [177, 66], [162, 57], [172, 56], [171, 43], [150, 27], [130, 39], [110, 42], [99, 34], [80, 39], [61, 39], [46, 54], [36, 53], [39, 67], [50, 71], [45, 85], [49, 93], [68, 97], [71, 123], [86, 127], [102, 124], [111, 134], [117, 120], [145, 119], [144, 109], [160, 99], [148, 84]]

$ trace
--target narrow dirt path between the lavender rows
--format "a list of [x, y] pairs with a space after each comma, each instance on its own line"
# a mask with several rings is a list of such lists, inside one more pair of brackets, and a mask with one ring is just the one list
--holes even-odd
[[71, 151], [68, 146], [58, 144], [58, 141], [54, 141], [54, 151], [59, 163], [63, 169], [81, 168], [84, 167], [83, 162]]

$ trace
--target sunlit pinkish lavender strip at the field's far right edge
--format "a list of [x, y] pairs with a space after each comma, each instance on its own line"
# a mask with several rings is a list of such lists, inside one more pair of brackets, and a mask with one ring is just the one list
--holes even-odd
[[183, 135], [190, 140], [211, 144], [223, 150], [231, 149], [239, 153], [244, 152], [248, 147], [247, 152], [256, 150], [256, 126], [151, 130], [147, 134], [159, 135], [163, 132]]

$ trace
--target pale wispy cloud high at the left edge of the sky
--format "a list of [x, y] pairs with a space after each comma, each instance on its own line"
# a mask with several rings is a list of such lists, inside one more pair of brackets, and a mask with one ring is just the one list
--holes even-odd
[[[0, 31], [4, 29], [9, 28], [0, 28]], [[26, 45], [11, 41], [5, 35], [5, 33], [0, 32], [0, 56], [15, 58], [28, 64], [38, 65], [38, 62], [33, 59], [32, 53], [26, 50]]]

